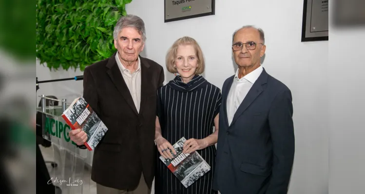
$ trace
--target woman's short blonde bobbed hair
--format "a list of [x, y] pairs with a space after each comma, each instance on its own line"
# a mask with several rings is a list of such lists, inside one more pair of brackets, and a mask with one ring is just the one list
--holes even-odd
[[184, 36], [182, 38], [177, 39], [173, 46], [168, 50], [166, 55], [166, 68], [170, 73], [177, 73], [177, 70], [174, 68], [175, 59], [177, 55], [177, 48], [182, 45], [192, 45], [195, 49], [195, 55], [198, 58], [198, 67], [196, 68], [195, 74], [202, 74], [205, 69], [205, 61], [203, 56], [203, 51], [200, 49], [199, 44], [195, 41], [195, 39]]

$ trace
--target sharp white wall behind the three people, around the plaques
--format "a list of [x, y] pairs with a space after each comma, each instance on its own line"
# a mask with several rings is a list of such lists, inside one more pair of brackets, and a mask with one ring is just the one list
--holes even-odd
[[[234, 30], [249, 24], [262, 28], [267, 45], [263, 66], [293, 94], [296, 153], [289, 193], [328, 193], [328, 42], [301, 43], [302, 0], [216, 0], [214, 16], [168, 23], [163, 0], [134, 0], [126, 9], [145, 21], [144, 56], [165, 67], [173, 41], [192, 36], [207, 61], [205, 78], [220, 88], [234, 74]], [[171, 80], [173, 75], [165, 72]]]

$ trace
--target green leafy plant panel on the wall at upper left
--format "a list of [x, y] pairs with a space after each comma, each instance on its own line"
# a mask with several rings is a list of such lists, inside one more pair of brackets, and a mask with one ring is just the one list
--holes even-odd
[[40, 64], [68, 70], [110, 57], [113, 30], [132, 0], [38, 0], [36, 51]]

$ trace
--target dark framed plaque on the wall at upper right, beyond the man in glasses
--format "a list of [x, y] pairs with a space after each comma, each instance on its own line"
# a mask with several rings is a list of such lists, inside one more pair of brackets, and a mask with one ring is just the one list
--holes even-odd
[[328, 40], [328, 0], [304, 0], [302, 42]]

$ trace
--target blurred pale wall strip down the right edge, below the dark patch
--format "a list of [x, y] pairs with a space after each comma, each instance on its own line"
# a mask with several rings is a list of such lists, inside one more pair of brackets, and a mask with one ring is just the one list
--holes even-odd
[[[347, 5], [355, 4], [351, 3]], [[359, 9], [365, 5], [364, 1], [356, 3]], [[364, 24], [329, 29], [330, 194], [365, 194]], [[351, 47], [344, 47], [345, 43]]]

